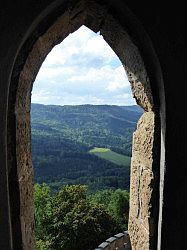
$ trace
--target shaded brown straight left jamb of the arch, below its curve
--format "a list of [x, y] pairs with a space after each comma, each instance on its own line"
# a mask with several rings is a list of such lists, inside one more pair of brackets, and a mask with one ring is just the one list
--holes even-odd
[[17, 164], [23, 249], [34, 248], [33, 168], [30, 145], [30, 114], [17, 112]]

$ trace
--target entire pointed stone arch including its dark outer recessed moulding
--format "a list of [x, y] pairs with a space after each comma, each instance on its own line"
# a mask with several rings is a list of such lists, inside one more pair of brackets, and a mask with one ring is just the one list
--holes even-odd
[[[162, 155], [160, 120], [164, 119], [159, 113], [160, 107], [164, 106], [164, 103], [160, 104], [163, 96], [158, 94], [161, 73], [157, 65], [152, 69], [146, 67], [143, 53], [134, 42], [134, 37], [129, 36], [129, 29], [126, 30], [120, 23], [111, 6], [98, 2], [62, 1], [58, 8], [49, 11], [48, 20], [45, 17], [38, 21], [34, 30], [30, 31], [15, 61], [8, 100], [7, 141], [13, 245], [20, 249], [34, 249], [30, 132], [32, 84], [50, 50], [82, 25], [103, 35], [127, 72], [133, 96], [145, 110], [133, 136], [129, 234], [133, 249], [153, 249], [157, 245]], [[131, 28], [133, 30], [133, 25]], [[149, 50], [152, 51], [152, 48]], [[154, 52], [151, 56], [154, 61]]]

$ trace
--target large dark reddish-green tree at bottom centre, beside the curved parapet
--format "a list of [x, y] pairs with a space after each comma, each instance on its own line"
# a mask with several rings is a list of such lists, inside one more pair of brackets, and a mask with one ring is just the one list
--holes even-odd
[[121, 227], [101, 204], [86, 199], [86, 187], [64, 186], [54, 198], [52, 249], [93, 250]]

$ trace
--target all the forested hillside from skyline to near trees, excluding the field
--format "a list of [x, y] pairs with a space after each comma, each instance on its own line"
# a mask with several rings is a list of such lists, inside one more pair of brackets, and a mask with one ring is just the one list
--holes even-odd
[[116, 176], [128, 172], [129, 166], [122, 168], [91, 154], [90, 150], [108, 148], [131, 156], [132, 133], [141, 114], [139, 106], [32, 104], [32, 153], [36, 180], [55, 182], [57, 186], [59, 182], [94, 185], [96, 179], [101, 186], [110, 186], [112, 182], [111, 185], [118, 185], [120, 181], [118, 183]]

